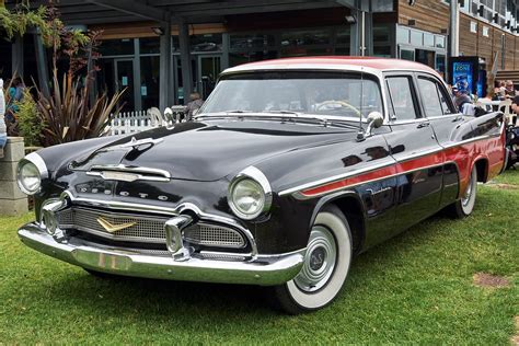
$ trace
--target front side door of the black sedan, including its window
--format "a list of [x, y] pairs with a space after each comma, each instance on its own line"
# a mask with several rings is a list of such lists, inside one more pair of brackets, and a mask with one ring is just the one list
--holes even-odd
[[414, 73], [388, 73], [385, 86], [391, 132], [384, 136], [397, 165], [396, 233], [438, 210], [443, 158], [424, 116]]

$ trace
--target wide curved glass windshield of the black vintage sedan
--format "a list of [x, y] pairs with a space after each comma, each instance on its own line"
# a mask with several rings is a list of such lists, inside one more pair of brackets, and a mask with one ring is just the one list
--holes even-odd
[[290, 112], [358, 119], [374, 111], [382, 113], [382, 100], [369, 74], [267, 71], [224, 78], [199, 114]]

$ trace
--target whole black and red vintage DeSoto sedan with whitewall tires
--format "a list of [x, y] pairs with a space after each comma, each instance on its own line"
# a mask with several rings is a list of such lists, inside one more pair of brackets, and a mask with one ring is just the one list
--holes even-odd
[[463, 116], [415, 62], [293, 58], [226, 70], [194, 120], [46, 148], [19, 164], [21, 240], [99, 276], [268, 286], [328, 304], [351, 258], [506, 164], [500, 113]]

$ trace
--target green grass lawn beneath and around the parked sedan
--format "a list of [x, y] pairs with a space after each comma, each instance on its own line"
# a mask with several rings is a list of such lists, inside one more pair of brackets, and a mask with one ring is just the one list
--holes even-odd
[[[328, 308], [287, 316], [258, 287], [100, 279], [20, 243], [0, 218], [0, 344], [447, 343], [519, 334], [519, 171], [480, 186], [464, 220], [434, 217], [360, 255]], [[507, 288], [473, 285], [485, 272]]]

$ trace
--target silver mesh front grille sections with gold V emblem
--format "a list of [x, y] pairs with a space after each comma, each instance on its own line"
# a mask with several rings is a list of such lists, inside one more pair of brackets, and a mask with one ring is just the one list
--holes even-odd
[[[164, 223], [168, 218], [148, 215], [108, 212], [105, 210], [72, 207], [57, 212], [61, 229], [76, 229], [97, 237], [125, 242], [165, 243]], [[103, 224], [124, 227], [107, 231]], [[245, 238], [237, 230], [200, 221], [184, 230], [184, 240], [203, 246], [242, 249]]]

